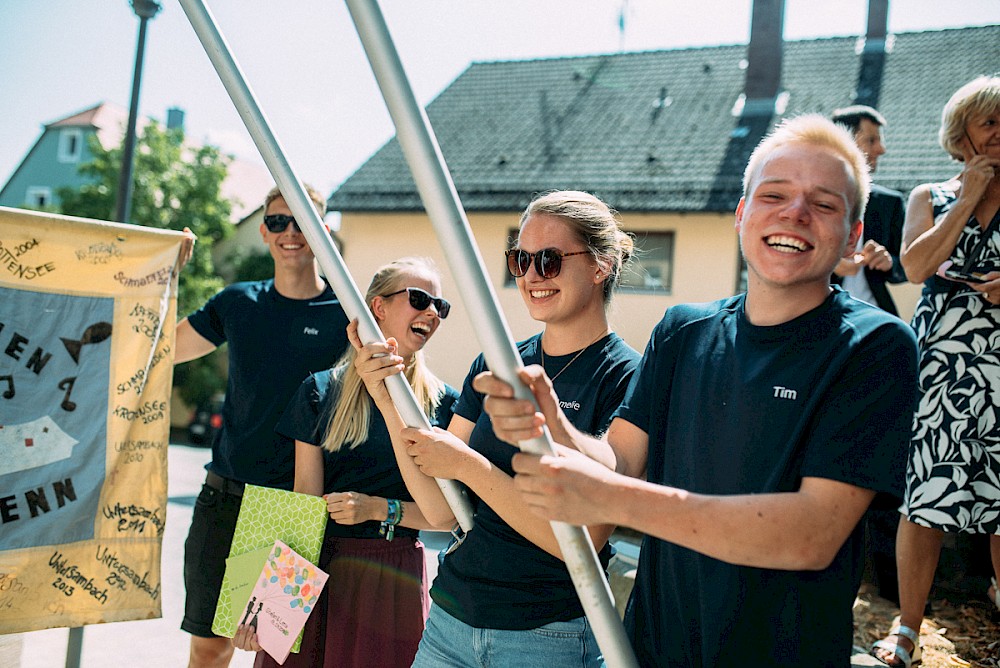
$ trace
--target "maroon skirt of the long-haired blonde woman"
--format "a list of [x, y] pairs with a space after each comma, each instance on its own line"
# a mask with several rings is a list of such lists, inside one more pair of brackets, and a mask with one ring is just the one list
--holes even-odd
[[[333, 538], [320, 568], [330, 574], [286, 668], [409, 668], [430, 610], [424, 546], [415, 538]], [[258, 652], [256, 668], [279, 665]]]

